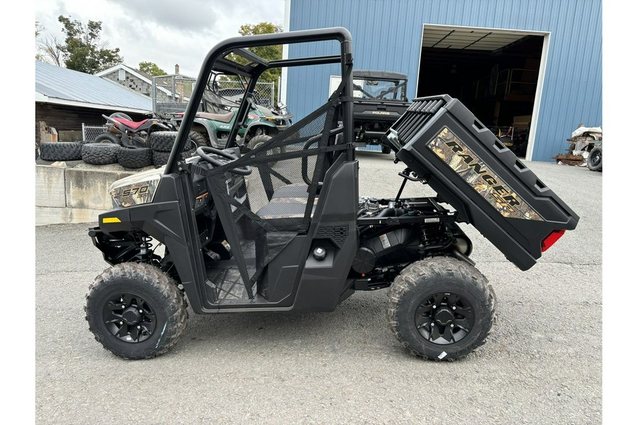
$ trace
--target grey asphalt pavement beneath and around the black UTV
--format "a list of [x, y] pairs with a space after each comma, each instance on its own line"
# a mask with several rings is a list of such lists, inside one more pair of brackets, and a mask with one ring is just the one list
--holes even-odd
[[[401, 164], [359, 152], [360, 193], [394, 196]], [[196, 315], [147, 361], [102, 348], [84, 320], [108, 266], [82, 225], [35, 228], [38, 424], [600, 424], [602, 181], [586, 167], [525, 162], [581, 220], [529, 271], [472, 227], [472, 259], [498, 322], [461, 361], [411, 356], [386, 323], [387, 290], [332, 313]], [[405, 196], [430, 193], [410, 183]]]

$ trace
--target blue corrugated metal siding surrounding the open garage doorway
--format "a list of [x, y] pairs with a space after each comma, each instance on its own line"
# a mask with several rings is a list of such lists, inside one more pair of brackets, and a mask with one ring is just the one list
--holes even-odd
[[[550, 33], [536, 128], [535, 161], [564, 153], [578, 123], [602, 125], [603, 21], [600, 0], [290, 0], [290, 30], [343, 26], [352, 33], [357, 69], [408, 74], [414, 96], [423, 24]], [[290, 57], [334, 55], [337, 43], [291, 45]], [[297, 119], [328, 98], [336, 65], [289, 70]]]

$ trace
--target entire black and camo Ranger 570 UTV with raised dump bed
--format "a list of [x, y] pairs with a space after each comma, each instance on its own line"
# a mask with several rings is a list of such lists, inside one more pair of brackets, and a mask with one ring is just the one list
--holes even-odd
[[[267, 61], [250, 50], [317, 41], [338, 54]], [[235, 146], [259, 74], [324, 64], [340, 64], [342, 75], [327, 103], [259, 147]], [[345, 28], [213, 47], [167, 165], [113, 183], [115, 208], [89, 230], [111, 265], [86, 297], [89, 329], [105, 348], [123, 358], [165, 353], [186, 327], [186, 299], [198, 314], [330, 312], [357, 290], [388, 287], [389, 326], [411, 353], [451, 361], [483, 344], [495, 296], [457, 222], [526, 270], [578, 217], [446, 95], [415, 99], [385, 136], [406, 165], [396, 197], [359, 198], [352, 64]], [[217, 74], [249, 81], [231, 137], [225, 149], [198, 147], [184, 160]], [[402, 198], [408, 180], [438, 196]]]

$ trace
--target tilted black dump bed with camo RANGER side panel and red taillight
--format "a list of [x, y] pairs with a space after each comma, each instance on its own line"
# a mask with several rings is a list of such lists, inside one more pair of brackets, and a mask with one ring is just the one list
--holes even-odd
[[520, 269], [527, 270], [578, 215], [457, 99], [416, 98], [392, 126], [397, 157]]

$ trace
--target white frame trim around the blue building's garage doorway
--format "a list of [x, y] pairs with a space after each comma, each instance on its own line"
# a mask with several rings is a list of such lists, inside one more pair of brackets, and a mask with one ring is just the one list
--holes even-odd
[[419, 42], [419, 62], [417, 69], [417, 84], [415, 89], [414, 97], [417, 96], [419, 91], [419, 75], [421, 72], [421, 54], [422, 54], [422, 40], [423, 34], [427, 28], [433, 28], [437, 30], [449, 29], [449, 30], [481, 30], [481, 31], [489, 31], [491, 33], [500, 33], [500, 34], [508, 34], [508, 35], [540, 35], [543, 38], [543, 49], [541, 53], [541, 62], [538, 69], [538, 81], [536, 84], [536, 94], [534, 97], [534, 107], [532, 108], [532, 123], [530, 128], [530, 135], [527, 138], [527, 152], [525, 153], [525, 159], [527, 161], [531, 161], [532, 152], [534, 152], [534, 145], [536, 142], [536, 128], [538, 124], [538, 115], [540, 111], [540, 103], [541, 96], [543, 93], [543, 83], [545, 81], [545, 71], [547, 69], [547, 56], [549, 53], [549, 41], [552, 36], [552, 33], [545, 31], [532, 31], [532, 30], [513, 30], [509, 28], [488, 28], [488, 27], [469, 27], [469, 26], [449, 26], [449, 25], [437, 25], [432, 23], [424, 23], [423, 28], [420, 34], [420, 42]]

